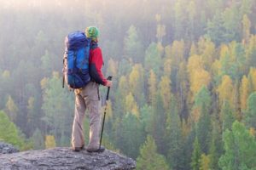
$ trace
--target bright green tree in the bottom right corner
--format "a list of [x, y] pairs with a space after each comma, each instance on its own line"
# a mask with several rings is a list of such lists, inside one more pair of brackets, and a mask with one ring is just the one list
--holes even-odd
[[219, 166], [224, 170], [255, 169], [256, 142], [246, 127], [234, 122], [231, 131], [224, 132], [224, 155], [219, 159]]

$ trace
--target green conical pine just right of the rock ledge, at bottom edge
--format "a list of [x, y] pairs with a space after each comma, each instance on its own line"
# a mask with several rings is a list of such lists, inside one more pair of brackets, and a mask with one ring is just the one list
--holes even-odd
[[164, 156], [157, 153], [154, 139], [147, 137], [147, 141], [140, 149], [140, 156], [137, 157], [137, 170], [169, 170]]

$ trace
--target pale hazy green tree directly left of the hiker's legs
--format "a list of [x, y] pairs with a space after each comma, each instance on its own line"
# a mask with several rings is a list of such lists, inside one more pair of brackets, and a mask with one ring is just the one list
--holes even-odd
[[69, 139], [64, 138], [71, 133], [73, 96], [61, 88], [61, 78], [58, 73], [54, 72], [49, 80], [44, 81], [42, 110], [45, 116], [42, 120], [49, 129], [48, 133], [55, 135], [56, 143], [67, 145], [70, 143]]

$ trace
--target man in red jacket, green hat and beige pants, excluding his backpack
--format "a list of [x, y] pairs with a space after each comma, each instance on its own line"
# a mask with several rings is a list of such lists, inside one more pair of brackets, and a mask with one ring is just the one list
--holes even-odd
[[84, 88], [76, 89], [75, 92], [75, 111], [73, 119], [72, 145], [74, 151], [84, 149], [83, 122], [85, 110], [89, 110], [90, 118], [90, 139], [86, 147], [90, 152], [102, 152], [100, 148], [100, 128], [101, 128], [101, 102], [99, 94], [99, 85], [111, 87], [112, 82], [108, 81], [102, 74], [102, 49], [98, 47], [99, 31], [95, 26], [85, 29], [86, 37], [91, 38], [90, 43], [90, 77], [89, 82]]

